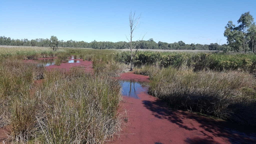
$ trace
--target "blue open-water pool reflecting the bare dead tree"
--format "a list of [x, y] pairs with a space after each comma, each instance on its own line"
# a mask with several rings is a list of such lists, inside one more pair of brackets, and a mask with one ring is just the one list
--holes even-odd
[[138, 94], [145, 91], [144, 83], [140, 83], [134, 80], [120, 80], [122, 85], [122, 95], [132, 98], [139, 98]]

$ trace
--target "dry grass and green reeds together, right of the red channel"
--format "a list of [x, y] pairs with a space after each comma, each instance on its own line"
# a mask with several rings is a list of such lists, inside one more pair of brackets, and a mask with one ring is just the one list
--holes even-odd
[[149, 93], [171, 107], [255, 126], [255, 64], [254, 54], [140, 52], [134, 73], [150, 76]]

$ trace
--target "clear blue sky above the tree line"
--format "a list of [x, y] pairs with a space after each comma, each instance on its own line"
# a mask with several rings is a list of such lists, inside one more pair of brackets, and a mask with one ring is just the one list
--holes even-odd
[[[0, 36], [29, 40], [57, 36], [59, 40], [127, 41], [129, 13], [142, 14], [134, 40], [186, 44], [225, 44], [229, 20], [242, 13], [256, 18], [255, 0], [203, 1], [12, 1], [0, 0]], [[256, 19], [254, 20], [256, 21]]]

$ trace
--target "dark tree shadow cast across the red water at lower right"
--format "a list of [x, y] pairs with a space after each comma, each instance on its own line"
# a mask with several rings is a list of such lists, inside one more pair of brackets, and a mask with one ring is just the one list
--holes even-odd
[[[206, 139], [188, 138], [185, 140], [187, 143], [216, 143], [213, 140], [214, 137], [228, 138], [229, 142], [232, 144], [256, 143], [255, 127], [239, 126], [229, 121], [216, 120], [199, 114], [189, 113], [188, 111], [172, 109], [165, 101], [159, 99], [155, 101], [144, 100], [142, 103], [147, 109], [152, 111], [152, 115], [155, 117], [159, 119], [167, 119], [178, 125], [180, 128], [184, 128], [186, 130], [199, 130], [199, 135], [206, 137]], [[193, 119], [197, 121], [199, 123], [199, 127], [194, 126], [192, 122], [185, 123], [185, 119]], [[203, 130], [201, 130], [201, 128]]]

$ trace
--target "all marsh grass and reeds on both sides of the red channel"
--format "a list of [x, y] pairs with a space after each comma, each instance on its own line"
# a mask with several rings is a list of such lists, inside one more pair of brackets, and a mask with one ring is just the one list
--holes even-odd
[[[24, 61], [55, 57], [92, 61], [80, 68], [48, 71]], [[150, 76], [149, 93], [171, 107], [256, 123], [255, 55], [139, 51], [135, 73]], [[104, 143], [120, 132], [120, 83], [129, 51], [0, 46], [0, 127], [12, 143]]]

